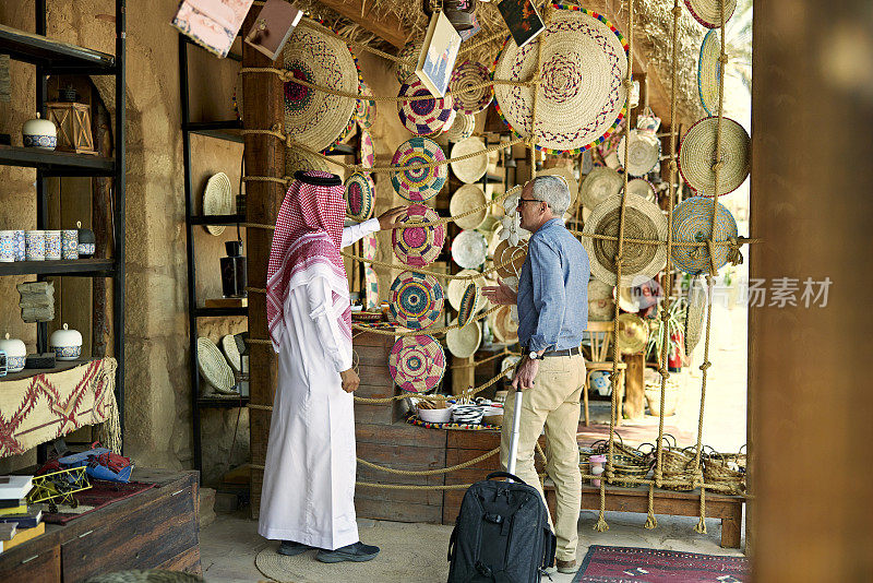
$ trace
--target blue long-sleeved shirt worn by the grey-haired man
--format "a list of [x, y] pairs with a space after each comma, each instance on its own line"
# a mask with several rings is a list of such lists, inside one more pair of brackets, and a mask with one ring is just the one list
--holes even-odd
[[530, 237], [518, 282], [518, 341], [527, 350], [582, 344], [588, 328], [588, 253], [552, 218]]

